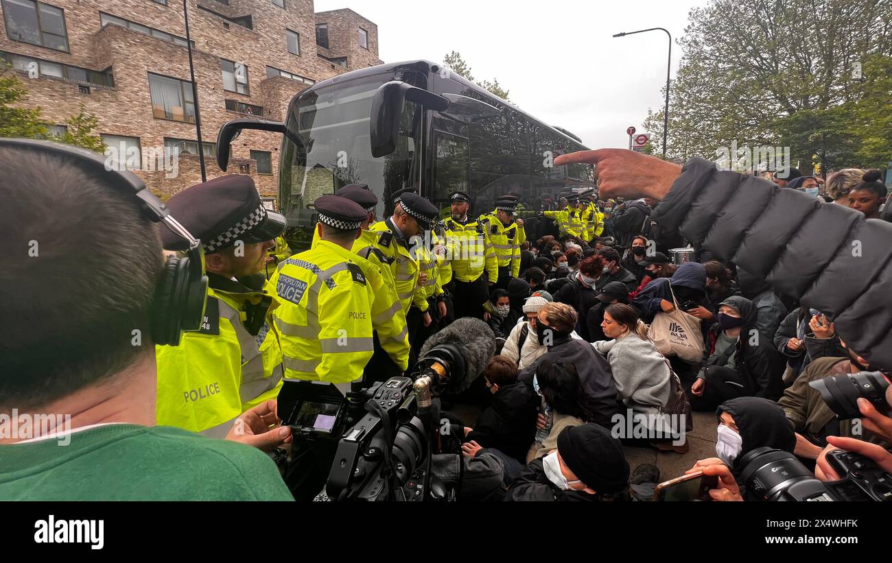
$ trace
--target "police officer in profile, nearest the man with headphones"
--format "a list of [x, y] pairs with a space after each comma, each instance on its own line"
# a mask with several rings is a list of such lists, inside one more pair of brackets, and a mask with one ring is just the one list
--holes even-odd
[[[158, 424], [225, 437], [236, 417], [281, 387], [277, 301], [262, 272], [285, 217], [263, 207], [248, 175], [196, 184], [167, 206], [201, 239], [209, 287], [201, 330], [178, 347], [156, 347]], [[166, 230], [161, 240], [169, 250], [183, 242]]]

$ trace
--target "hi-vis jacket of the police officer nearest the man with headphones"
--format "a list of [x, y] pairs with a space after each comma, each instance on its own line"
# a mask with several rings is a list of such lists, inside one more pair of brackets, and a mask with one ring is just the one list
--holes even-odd
[[282, 386], [280, 335], [272, 321], [278, 302], [266, 280], [263, 290], [253, 290], [208, 277], [201, 330], [184, 333], [177, 347], [155, 347], [155, 412], [159, 426], [226, 437], [235, 418], [276, 398]]

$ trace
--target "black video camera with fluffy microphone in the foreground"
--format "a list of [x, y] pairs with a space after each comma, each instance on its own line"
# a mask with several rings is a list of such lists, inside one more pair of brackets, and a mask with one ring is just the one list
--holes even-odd
[[459, 319], [428, 339], [408, 376], [370, 388], [354, 381], [346, 397], [332, 384], [287, 381], [279, 415], [292, 429], [294, 445], [324, 450], [336, 442], [334, 457], [327, 459], [330, 500], [454, 500], [455, 491], [431, 472], [440, 444], [434, 440], [440, 422], [435, 399], [467, 389], [494, 347], [485, 322]]

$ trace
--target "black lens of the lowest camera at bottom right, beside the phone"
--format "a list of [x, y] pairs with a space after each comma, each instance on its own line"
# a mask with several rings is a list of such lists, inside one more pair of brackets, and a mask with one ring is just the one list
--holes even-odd
[[[769, 447], [756, 448], [740, 458], [737, 465], [741, 468], [739, 482], [764, 501], [812, 500], [811, 494], [825, 490], [823, 484], [792, 453]], [[791, 494], [790, 489], [794, 487], [797, 491], [807, 492], [809, 496], [800, 498], [797, 493]]]

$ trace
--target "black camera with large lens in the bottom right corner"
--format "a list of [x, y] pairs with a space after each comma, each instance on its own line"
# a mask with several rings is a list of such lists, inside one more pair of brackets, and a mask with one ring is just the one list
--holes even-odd
[[822, 482], [792, 453], [760, 447], [740, 458], [739, 481], [763, 501], [892, 502], [892, 476], [873, 461], [845, 450], [827, 461], [842, 479]]

